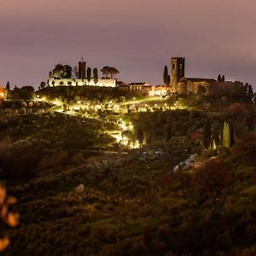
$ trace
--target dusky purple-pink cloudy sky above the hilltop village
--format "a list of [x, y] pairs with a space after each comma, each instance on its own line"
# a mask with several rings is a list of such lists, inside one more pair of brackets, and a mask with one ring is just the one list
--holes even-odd
[[0, 8], [0, 83], [36, 88], [56, 63], [113, 66], [125, 82], [162, 83], [171, 56], [186, 76], [256, 89], [255, 0], [8, 0]]

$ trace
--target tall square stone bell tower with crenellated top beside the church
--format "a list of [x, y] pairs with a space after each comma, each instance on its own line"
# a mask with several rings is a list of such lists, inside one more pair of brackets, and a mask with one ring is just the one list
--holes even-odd
[[171, 60], [172, 70], [172, 90], [177, 91], [177, 84], [185, 76], [185, 58], [172, 57]]

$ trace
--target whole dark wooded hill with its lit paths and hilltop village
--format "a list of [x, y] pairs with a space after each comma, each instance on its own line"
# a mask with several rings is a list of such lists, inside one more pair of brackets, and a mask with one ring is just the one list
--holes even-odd
[[255, 255], [253, 86], [181, 57], [158, 85], [87, 66], [0, 89], [0, 251]]

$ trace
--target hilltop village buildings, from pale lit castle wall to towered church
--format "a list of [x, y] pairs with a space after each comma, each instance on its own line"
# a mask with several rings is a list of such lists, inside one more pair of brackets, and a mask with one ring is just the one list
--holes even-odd
[[[225, 81], [224, 76], [219, 76], [216, 79], [202, 79], [202, 78], [187, 78], [185, 77], [185, 58], [183, 57], [172, 57], [171, 59], [171, 80], [169, 83], [152, 85], [146, 82], [137, 82], [127, 84], [119, 82], [116, 79], [108, 78], [108, 72], [105, 73], [103, 67], [103, 74], [107, 74], [107, 77], [98, 79], [97, 71], [95, 75], [91, 77], [90, 68], [89, 73], [86, 69], [86, 61], [79, 61], [79, 69], [77, 75], [70, 76], [69, 78], [60, 78], [55, 76], [55, 71], [49, 72], [49, 79], [47, 85], [50, 87], [54, 86], [99, 86], [99, 87], [119, 87], [120, 89], [133, 91], [137, 95], [143, 96], [165, 96], [167, 93], [191, 95], [201, 91], [206, 95], [214, 95], [222, 93], [223, 90], [229, 91], [234, 85], [231, 81]], [[119, 72], [118, 72], [119, 73]], [[111, 74], [111, 71], [110, 71]]]

